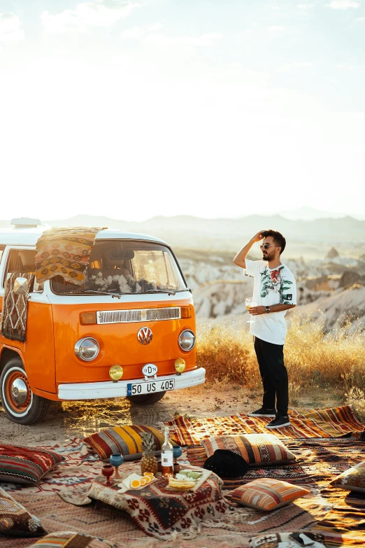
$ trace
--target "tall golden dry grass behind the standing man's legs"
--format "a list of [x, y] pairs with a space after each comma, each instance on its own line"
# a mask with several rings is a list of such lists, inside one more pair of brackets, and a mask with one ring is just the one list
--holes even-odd
[[[292, 317], [285, 344], [289, 394], [296, 404], [300, 393], [313, 388], [340, 390], [348, 402], [358, 402], [365, 414], [365, 334], [345, 324], [326, 334], [324, 318], [310, 321]], [[211, 324], [199, 326], [197, 363], [206, 368], [209, 381], [240, 384], [261, 391], [252, 335], [246, 327]], [[360, 403], [359, 403], [360, 402]]]

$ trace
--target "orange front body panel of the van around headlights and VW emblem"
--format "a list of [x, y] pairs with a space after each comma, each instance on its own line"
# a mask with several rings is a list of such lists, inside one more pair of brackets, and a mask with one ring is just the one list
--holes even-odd
[[[195, 332], [195, 316], [192, 299], [179, 301], [176, 306], [189, 306], [192, 317], [181, 320], [148, 321], [134, 323], [110, 323], [80, 325], [80, 313], [96, 310], [127, 310], [164, 308], [174, 306], [171, 302], [131, 302], [110, 304], [53, 304], [55, 332], [56, 384], [110, 381], [109, 368], [122, 365], [122, 379], [143, 379], [142, 367], [155, 363], [159, 375], [174, 374], [176, 358], [184, 358], [186, 370], [193, 370], [196, 363], [195, 347], [184, 352], [178, 346], [178, 336], [184, 329]], [[148, 326], [153, 333], [152, 342], [138, 342], [137, 333]], [[80, 360], [74, 347], [78, 339], [94, 337], [100, 346], [99, 355], [91, 362]], [[41, 384], [34, 382], [41, 388]]]

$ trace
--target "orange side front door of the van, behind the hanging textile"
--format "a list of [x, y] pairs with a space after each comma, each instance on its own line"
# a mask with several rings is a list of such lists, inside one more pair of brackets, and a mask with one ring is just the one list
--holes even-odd
[[[36, 248], [11, 246], [4, 251], [1, 260], [0, 293], [10, 274], [36, 273]], [[5, 265], [3, 264], [5, 262]], [[31, 389], [56, 393], [55, 384], [55, 341], [53, 338], [52, 307], [43, 289], [34, 283], [30, 287], [27, 311], [27, 340], [19, 342], [0, 334], [0, 346], [13, 347], [20, 351]]]

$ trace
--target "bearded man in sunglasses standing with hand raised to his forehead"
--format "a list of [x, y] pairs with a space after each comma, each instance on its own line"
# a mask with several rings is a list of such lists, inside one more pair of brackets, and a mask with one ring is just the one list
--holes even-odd
[[[247, 260], [250, 248], [260, 240], [263, 240], [260, 246], [262, 260]], [[261, 230], [234, 258], [236, 265], [244, 268], [245, 274], [255, 281], [253, 300], [257, 306], [249, 309], [249, 313], [255, 316], [255, 322], [250, 323], [250, 332], [255, 339], [264, 397], [261, 409], [248, 416], [273, 417], [266, 428], [281, 428], [290, 424], [283, 349], [287, 334], [285, 314], [296, 305], [296, 285], [292, 272], [280, 260], [285, 244], [285, 237], [280, 232]]]

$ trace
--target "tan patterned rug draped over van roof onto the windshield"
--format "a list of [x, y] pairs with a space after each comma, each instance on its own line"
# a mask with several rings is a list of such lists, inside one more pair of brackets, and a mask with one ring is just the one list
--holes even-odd
[[36, 244], [36, 281], [55, 276], [82, 286], [96, 234], [103, 228], [57, 227], [45, 230]]

